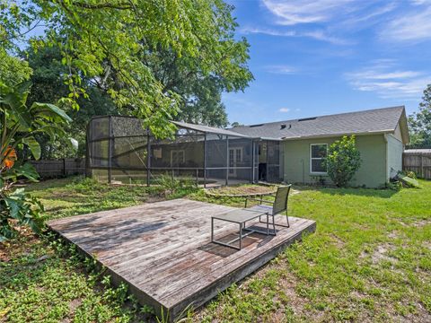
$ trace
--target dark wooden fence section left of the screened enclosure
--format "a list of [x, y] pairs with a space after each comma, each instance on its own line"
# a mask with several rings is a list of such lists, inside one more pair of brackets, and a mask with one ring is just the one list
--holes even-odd
[[84, 158], [31, 161], [41, 178], [56, 178], [85, 174]]

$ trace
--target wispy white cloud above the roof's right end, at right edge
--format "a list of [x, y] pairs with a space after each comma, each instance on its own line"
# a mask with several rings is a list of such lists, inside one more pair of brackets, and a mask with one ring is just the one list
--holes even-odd
[[383, 98], [411, 99], [420, 97], [431, 75], [418, 71], [396, 69], [391, 60], [373, 64], [346, 74], [349, 83], [358, 91], [376, 92]]

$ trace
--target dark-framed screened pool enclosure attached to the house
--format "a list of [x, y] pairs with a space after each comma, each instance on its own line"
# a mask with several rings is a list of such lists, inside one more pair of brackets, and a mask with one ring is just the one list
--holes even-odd
[[280, 180], [279, 142], [173, 123], [178, 128], [174, 137], [157, 139], [138, 118], [92, 118], [87, 127], [87, 174], [109, 183], [151, 185], [172, 178], [204, 187]]

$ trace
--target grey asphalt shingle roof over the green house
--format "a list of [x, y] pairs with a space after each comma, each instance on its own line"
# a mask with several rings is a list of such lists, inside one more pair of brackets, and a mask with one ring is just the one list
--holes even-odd
[[370, 109], [315, 118], [270, 122], [254, 126], [233, 127], [241, 135], [270, 139], [299, 139], [316, 136], [357, 135], [393, 132], [404, 107]]

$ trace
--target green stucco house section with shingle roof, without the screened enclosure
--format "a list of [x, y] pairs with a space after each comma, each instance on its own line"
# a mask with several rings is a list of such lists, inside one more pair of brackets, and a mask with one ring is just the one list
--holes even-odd
[[266, 140], [259, 151], [265, 150], [265, 144], [268, 147], [271, 141], [280, 143], [280, 156], [283, 156], [280, 178], [289, 183], [312, 183], [320, 177], [326, 178], [321, 161], [328, 146], [343, 135], [356, 135], [362, 163], [352, 185], [377, 188], [402, 170], [402, 152], [404, 145], [409, 143], [403, 106], [234, 127], [230, 130]]

